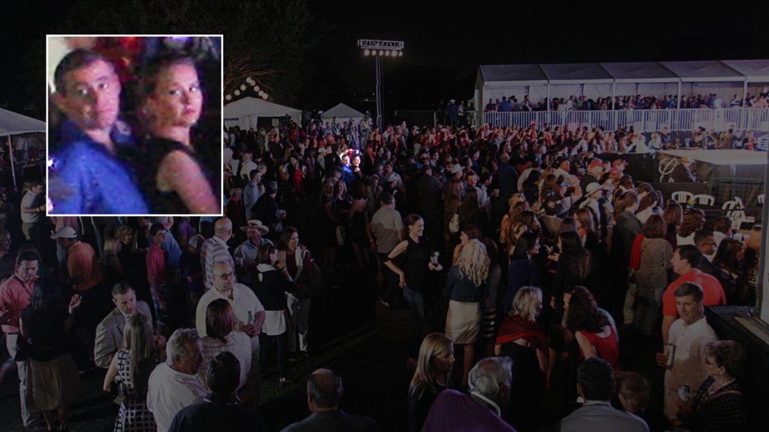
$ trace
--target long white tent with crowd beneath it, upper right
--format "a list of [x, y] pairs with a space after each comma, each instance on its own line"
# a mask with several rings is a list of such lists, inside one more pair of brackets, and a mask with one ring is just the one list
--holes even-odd
[[677, 96], [715, 93], [728, 106], [734, 95], [757, 95], [769, 85], [769, 60], [646, 61], [628, 63], [558, 63], [480, 65], [475, 105], [489, 99], [529, 95], [533, 106], [553, 98], [585, 96], [593, 100], [626, 95]]

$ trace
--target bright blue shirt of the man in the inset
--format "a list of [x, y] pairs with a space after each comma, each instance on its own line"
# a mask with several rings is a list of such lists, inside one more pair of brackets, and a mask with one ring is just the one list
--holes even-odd
[[[51, 214], [148, 214], [128, 165], [66, 121], [60, 130], [61, 151], [49, 166]], [[131, 148], [130, 135], [112, 133], [116, 153]]]

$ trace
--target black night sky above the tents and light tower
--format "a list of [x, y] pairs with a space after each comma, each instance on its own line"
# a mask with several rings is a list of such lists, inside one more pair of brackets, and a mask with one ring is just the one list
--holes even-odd
[[[18, 59], [40, 40], [36, 36], [55, 28], [68, 3], [4, 3], [0, 106], [21, 111], [28, 104], [28, 88], [18, 85], [25, 75]], [[613, 6], [617, 9], [556, 2], [311, 1], [311, 12], [331, 28], [318, 48], [323, 60], [314, 65], [311, 80], [333, 85], [340, 100], [354, 102], [372, 93], [374, 59], [362, 55], [358, 38], [405, 42], [403, 57], [384, 60], [385, 91], [398, 93], [391, 104], [405, 109], [429, 108], [425, 105], [435, 98], [471, 98], [480, 64], [769, 58], [769, 3], [719, 4], [724, 9], [702, 2]], [[40, 13], [43, 9], [47, 13]], [[410, 82], [418, 88], [409, 88]], [[303, 98], [300, 108], [330, 108], [323, 106], [330, 100]]]

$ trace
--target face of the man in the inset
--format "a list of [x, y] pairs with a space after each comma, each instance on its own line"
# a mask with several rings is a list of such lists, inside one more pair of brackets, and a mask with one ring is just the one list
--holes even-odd
[[68, 71], [54, 99], [59, 109], [84, 131], [112, 128], [120, 112], [120, 80], [104, 60]]

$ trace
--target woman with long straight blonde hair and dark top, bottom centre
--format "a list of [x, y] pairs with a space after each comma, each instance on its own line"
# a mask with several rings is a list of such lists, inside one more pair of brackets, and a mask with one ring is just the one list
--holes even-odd
[[454, 370], [454, 344], [451, 337], [431, 333], [419, 347], [417, 370], [408, 386], [408, 429], [422, 430], [430, 407], [441, 391], [451, 387], [449, 377]]

